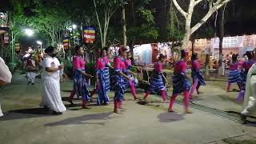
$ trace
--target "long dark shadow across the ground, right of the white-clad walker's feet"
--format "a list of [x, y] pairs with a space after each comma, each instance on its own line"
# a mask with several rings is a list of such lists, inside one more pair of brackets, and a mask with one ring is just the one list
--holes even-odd
[[106, 122], [86, 122], [90, 120], [107, 120], [110, 119], [110, 114], [113, 114], [112, 112], [108, 113], [102, 113], [102, 114], [87, 114], [83, 115], [81, 117], [75, 117], [75, 118], [66, 118], [59, 122], [51, 122], [47, 123], [45, 126], [60, 126], [60, 125], [81, 125], [81, 124], [94, 124], [94, 125], [102, 125], [104, 126]]

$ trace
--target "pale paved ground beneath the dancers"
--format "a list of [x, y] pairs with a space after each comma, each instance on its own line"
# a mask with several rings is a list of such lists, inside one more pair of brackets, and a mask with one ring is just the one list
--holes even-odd
[[[237, 93], [225, 92], [225, 82], [207, 84], [194, 103], [218, 110], [242, 109], [241, 104], [234, 102]], [[126, 94], [124, 114], [113, 114], [112, 102], [110, 106], [92, 103], [90, 110], [70, 107], [65, 100], [71, 86], [71, 82], [62, 85], [62, 98], [68, 111], [53, 116], [38, 108], [42, 93], [40, 82], [27, 86], [24, 77], [15, 77], [10, 86], [0, 90], [5, 112], [0, 118], [1, 143], [256, 143], [254, 126], [244, 126], [197, 108], [192, 108], [194, 114], [185, 115], [179, 104], [174, 107], [178, 114], [166, 113], [168, 104], [159, 103], [161, 99], [155, 95], [150, 97], [149, 104], [140, 105]]]

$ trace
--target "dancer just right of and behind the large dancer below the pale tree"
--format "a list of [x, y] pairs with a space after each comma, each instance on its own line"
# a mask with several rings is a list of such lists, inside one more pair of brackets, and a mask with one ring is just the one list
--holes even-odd
[[199, 94], [199, 87], [206, 86], [206, 82], [204, 81], [202, 72], [200, 71], [200, 63], [198, 62], [198, 54], [192, 54], [191, 61], [192, 61], [191, 76], [193, 78], [193, 85], [190, 90], [190, 98], [192, 98], [194, 90], [197, 90], [197, 92]]

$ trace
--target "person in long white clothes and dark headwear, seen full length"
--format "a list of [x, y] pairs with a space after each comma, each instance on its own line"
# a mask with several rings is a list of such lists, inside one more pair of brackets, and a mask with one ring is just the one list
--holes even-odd
[[62, 114], [66, 111], [66, 107], [61, 97], [59, 70], [64, 66], [56, 58], [58, 52], [53, 46], [46, 48], [45, 52], [48, 56], [42, 62], [44, 86], [40, 106], [53, 110], [54, 114]]

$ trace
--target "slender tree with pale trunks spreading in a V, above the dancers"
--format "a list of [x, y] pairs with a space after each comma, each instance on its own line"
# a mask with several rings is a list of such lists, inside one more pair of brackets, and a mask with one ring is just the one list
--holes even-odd
[[94, 11], [98, 22], [98, 30], [101, 37], [102, 47], [106, 46], [110, 19], [122, 5], [122, 0], [94, 0]]

